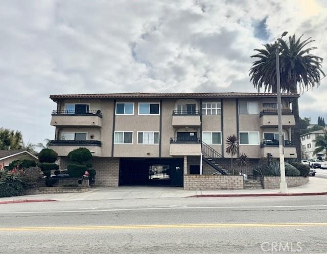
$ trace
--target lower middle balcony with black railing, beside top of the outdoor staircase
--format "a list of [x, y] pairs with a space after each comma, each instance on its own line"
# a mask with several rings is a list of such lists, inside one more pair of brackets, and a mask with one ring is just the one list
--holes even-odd
[[199, 138], [171, 138], [170, 156], [201, 155], [201, 140]]

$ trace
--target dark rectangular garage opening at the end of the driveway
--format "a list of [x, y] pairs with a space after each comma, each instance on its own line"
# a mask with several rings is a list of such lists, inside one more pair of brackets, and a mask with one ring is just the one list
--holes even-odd
[[183, 159], [121, 158], [119, 185], [183, 186]]

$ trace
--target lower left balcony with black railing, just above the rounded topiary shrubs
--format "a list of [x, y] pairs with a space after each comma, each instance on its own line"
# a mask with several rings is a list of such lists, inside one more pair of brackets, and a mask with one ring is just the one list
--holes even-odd
[[57, 152], [58, 156], [67, 156], [79, 147], [87, 148], [93, 156], [101, 156], [101, 141], [98, 140], [51, 140], [51, 149]]

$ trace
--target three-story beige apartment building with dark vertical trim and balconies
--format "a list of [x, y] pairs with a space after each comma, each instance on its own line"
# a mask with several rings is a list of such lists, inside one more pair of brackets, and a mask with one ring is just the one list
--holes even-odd
[[[295, 158], [290, 103], [283, 95], [285, 157]], [[226, 137], [240, 139], [240, 153], [258, 161], [278, 157], [276, 94], [122, 93], [51, 95], [57, 103], [50, 147], [67, 166], [67, 154], [86, 147], [94, 155], [96, 183], [183, 185], [183, 175], [226, 174]], [[202, 172], [200, 156], [203, 154]], [[252, 168], [252, 167], [251, 167]]]

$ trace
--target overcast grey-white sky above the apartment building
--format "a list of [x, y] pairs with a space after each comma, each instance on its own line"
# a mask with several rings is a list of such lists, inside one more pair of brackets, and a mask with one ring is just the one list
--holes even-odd
[[[326, 0], [2, 1], [0, 127], [53, 139], [50, 94], [256, 92], [254, 48], [312, 36], [327, 72]], [[327, 118], [327, 78], [300, 99]]]

